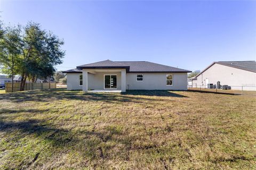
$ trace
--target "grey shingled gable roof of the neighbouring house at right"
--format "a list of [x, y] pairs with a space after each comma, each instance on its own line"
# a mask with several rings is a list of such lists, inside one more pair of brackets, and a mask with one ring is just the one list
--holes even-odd
[[209, 69], [213, 64], [221, 64], [229, 67], [234, 67], [236, 69], [251, 71], [256, 73], [256, 62], [255, 61], [222, 61], [222, 62], [213, 62], [211, 65], [207, 66], [201, 73], [197, 74], [197, 78], [200, 74]]

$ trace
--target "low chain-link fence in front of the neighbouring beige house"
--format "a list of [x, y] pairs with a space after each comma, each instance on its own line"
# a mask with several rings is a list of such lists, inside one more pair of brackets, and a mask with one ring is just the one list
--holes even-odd
[[215, 84], [197, 85], [188, 84], [188, 90], [194, 91], [205, 91], [205, 92], [216, 92], [224, 94], [234, 95], [253, 95], [256, 96], [256, 86], [217, 86]]

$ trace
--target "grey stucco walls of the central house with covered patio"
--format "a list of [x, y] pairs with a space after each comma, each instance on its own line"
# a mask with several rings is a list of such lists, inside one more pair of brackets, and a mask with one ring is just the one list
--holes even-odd
[[[79, 86], [79, 74], [67, 73], [67, 89], [82, 90]], [[102, 90], [104, 88], [104, 74], [117, 75], [117, 89], [121, 90], [121, 72], [88, 73], [88, 89]], [[125, 73], [124, 73], [125, 74]], [[142, 73], [143, 81], [137, 81], [137, 74], [126, 73], [126, 89], [130, 90], [187, 90], [187, 73]], [[166, 74], [173, 74], [173, 86], [166, 86]], [[128, 87], [129, 84], [129, 87]]]

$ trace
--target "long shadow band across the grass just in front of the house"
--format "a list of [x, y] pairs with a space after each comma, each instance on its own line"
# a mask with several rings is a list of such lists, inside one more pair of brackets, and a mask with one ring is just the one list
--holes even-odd
[[0, 95], [1, 100], [10, 100], [14, 103], [22, 103], [25, 101], [49, 102], [52, 100], [83, 100], [83, 101], [104, 101], [106, 103], [135, 102], [144, 103], [148, 101], [162, 101], [166, 99], [154, 98], [148, 96], [161, 97], [186, 97], [167, 90], [127, 90], [122, 94], [114, 93], [84, 93], [81, 90], [67, 91], [66, 89], [51, 90], [31, 90], [23, 92], [14, 92]]

